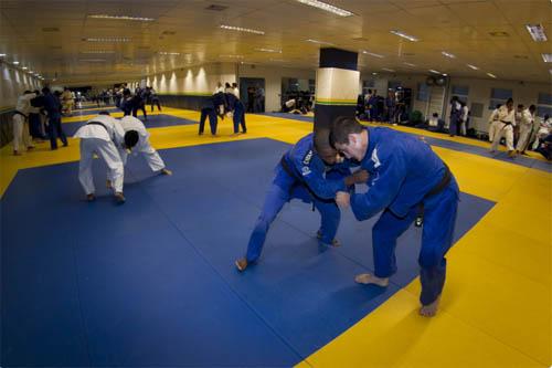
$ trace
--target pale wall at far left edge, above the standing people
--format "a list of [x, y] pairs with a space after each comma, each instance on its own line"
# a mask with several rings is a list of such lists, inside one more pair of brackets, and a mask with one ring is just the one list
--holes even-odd
[[39, 80], [28, 73], [11, 67], [6, 63], [0, 64], [0, 111], [15, 107], [18, 97], [25, 91], [41, 90]]

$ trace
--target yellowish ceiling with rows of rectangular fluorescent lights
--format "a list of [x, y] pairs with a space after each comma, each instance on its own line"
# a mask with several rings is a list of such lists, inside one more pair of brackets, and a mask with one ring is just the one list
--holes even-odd
[[[1, 0], [0, 53], [46, 78], [124, 80], [208, 62], [244, 62], [314, 69], [318, 50], [360, 54], [361, 71], [550, 82], [550, 0], [328, 0], [353, 12], [341, 18], [295, 0]], [[222, 10], [208, 10], [216, 4]], [[89, 14], [147, 17], [153, 21], [92, 19]], [[534, 42], [526, 24], [549, 38]], [[221, 29], [262, 30], [264, 35]], [[420, 39], [411, 42], [390, 30]], [[497, 34], [499, 35], [492, 35]], [[500, 33], [502, 32], [502, 33]], [[505, 32], [505, 33], [503, 33]], [[129, 42], [89, 42], [88, 38]], [[255, 49], [282, 50], [282, 53]], [[443, 51], [456, 55], [448, 59]], [[162, 54], [162, 53], [179, 53]], [[408, 63], [408, 64], [406, 64]], [[471, 70], [467, 64], [476, 65]]]

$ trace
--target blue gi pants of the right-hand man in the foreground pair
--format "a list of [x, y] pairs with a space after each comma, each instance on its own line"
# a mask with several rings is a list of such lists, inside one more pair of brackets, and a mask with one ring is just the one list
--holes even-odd
[[[453, 233], [458, 208], [458, 185], [453, 178], [439, 193], [424, 199], [424, 227], [418, 255], [422, 294], [420, 302], [428, 305], [440, 295], [445, 285], [445, 254], [453, 245]], [[396, 272], [396, 239], [410, 228], [417, 208], [399, 218], [385, 210], [372, 229], [374, 274], [390, 277]]]

